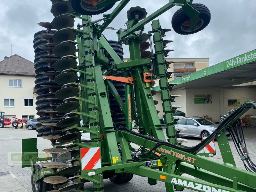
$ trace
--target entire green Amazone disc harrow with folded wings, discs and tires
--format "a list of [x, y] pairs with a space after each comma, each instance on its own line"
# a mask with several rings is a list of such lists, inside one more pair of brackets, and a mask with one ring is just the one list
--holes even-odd
[[[104, 30], [112, 29], [108, 25], [130, 0], [51, 1], [54, 19], [38, 23], [45, 29], [34, 35], [34, 63], [36, 110], [41, 116], [37, 136], [51, 141], [53, 148], [43, 150], [51, 155], [39, 158], [36, 140], [23, 140], [22, 166], [31, 166], [33, 192], [85, 192], [85, 182], [103, 192], [104, 179], [121, 184], [132, 180], [133, 174], [148, 177], [150, 185], [165, 182], [168, 192], [174, 188], [256, 191], [256, 168], [239, 121], [249, 108], [256, 107], [255, 102], [228, 112], [216, 131], [194, 147], [183, 145], [188, 140], [179, 138], [178, 132], [185, 129], [174, 126], [173, 113], [180, 106], [172, 102], [179, 95], [170, 93], [174, 84], [168, 82], [170, 63], [165, 57], [173, 51], [166, 49], [172, 41], [163, 38], [171, 29], [161, 28], [155, 19], [173, 6], [181, 6], [172, 17], [172, 28], [189, 35], [209, 24], [211, 13], [205, 5], [170, 0], [149, 16], [139, 6], [128, 8], [127, 28], [118, 29], [118, 41], [113, 41], [104, 37]], [[110, 14], [92, 21], [92, 15], [108, 11], [115, 3], [118, 6]], [[76, 28], [75, 19], [81, 23]], [[145, 32], [149, 22], [152, 30]], [[127, 62], [123, 45], [129, 46], [131, 60]], [[158, 101], [153, 100], [156, 92], [151, 90], [156, 82], [161, 88], [167, 141], [155, 107]], [[247, 171], [236, 168], [232, 153], [225, 152], [231, 151], [225, 129], [237, 141]], [[82, 134], [87, 140], [82, 140]], [[218, 141], [224, 163], [199, 154], [213, 139]]]

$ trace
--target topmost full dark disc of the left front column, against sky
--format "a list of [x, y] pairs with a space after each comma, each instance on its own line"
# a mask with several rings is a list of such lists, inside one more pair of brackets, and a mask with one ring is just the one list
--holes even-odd
[[[53, 3], [53, 2], [52, 2]], [[69, 1], [57, 1], [52, 5], [51, 13], [54, 17], [65, 13], [73, 13], [74, 9], [69, 4]]]

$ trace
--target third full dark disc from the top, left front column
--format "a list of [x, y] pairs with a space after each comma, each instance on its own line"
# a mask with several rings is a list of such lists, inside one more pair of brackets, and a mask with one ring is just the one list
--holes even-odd
[[74, 41], [75, 39], [76, 33], [72, 30], [72, 28], [62, 29], [54, 33], [52, 36], [52, 41], [58, 44], [60, 44], [62, 41]]

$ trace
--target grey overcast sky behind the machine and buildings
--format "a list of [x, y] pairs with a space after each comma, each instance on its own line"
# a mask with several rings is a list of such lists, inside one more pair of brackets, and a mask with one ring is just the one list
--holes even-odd
[[[123, 24], [127, 20], [126, 11], [130, 7], [143, 7], [149, 15], [168, 2], [131, 0], [110, 26], [124, 28]], [[168, 49], [175, 50], [169, 53], [169, 57], [209, 57], [211, 66], [255, 49], [255, 0], [194, 0], [194, 3], [205, 4], [210, 9], [211, 22], [204, 30], [193, 35], [183, 36], [174, 31], [166, 33], [164, 39], [174, 41], [168, 44]], [[0, 0], [0, 60], [3, 60], [4, 56], [11, 56], [12, 44], [12, 55], [18, 54], [33, 62], [33, 35], [44, 30], [37, 25], [38, 22], [52, 21], [51, 6], [50, 0]], [[172, 15], [179, 8], [175, 6], [158, 17], [162, 28], [172, 28]], [[101, 17], [93, 16], [93, 20]], [[146, 25], [146, 32], [150, 29], [149, 23]], [[104, 35], [108, 40], [117, 40], [116, 31], [105, 30]], [[124, 50], [124, 57], [129, 57], [128, 49]]]

